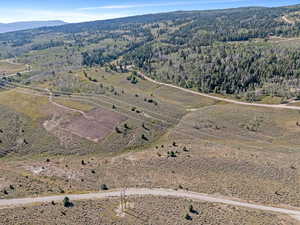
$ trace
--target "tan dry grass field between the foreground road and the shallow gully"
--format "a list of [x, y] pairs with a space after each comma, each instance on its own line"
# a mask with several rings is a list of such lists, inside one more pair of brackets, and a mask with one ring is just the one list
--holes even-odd
[[[219, 110], [223, 118], [219, 118]], [[144, 151], [116, 156], [50, 157], [50, 162], [46, 157], [18, 161], [18, 173], [25, 171], [26, 183], [37, 180], [41, 185], [36, 192], [28, 191], [22, 185], [24, 181], [2, 176], [6, 189], [9, 184], [22, 186], [1, 195], [7, 198], [61, 190], [97, 191], [105, 183], [110, 188], [184, 188], [268, 205], [299, 207], [299, 131], [295, 124], [298, 112], [265, 112], [229, 104], [209, 106], [187, 114]], [[290, 116], [284, 117], [286, 114]], [[255, 117], [259, 126], [252, 124]], [[3, 165], [16, 172], [15, 162]], [[50, 181], [55, 187], [51, 192], [45, 188]]]

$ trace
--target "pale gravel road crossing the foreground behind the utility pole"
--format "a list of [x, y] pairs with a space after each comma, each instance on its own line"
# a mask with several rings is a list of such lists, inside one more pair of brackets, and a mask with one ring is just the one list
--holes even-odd
[[[109, 192], [97, 192], [89, 194], [71, 194], [67, 195], [71, 201], [75, 200], [95, 200], [112, 197], [120, 197], [123, 190], [109, 191]], [[222, 203], [226, 205], [233, 205], [237, 207], [245, 207], [255, 210], [268, 211], [273, 213], [287, 214], [300, 221], [300, 209], [285, 209], [276, 208], [271, 206], [258, 205], [253, 203], [246, 203], [243, 201], [230, 200], [225, 197], [216, 197], [213, 195], [207, 195], [197, 192], [183, 191], [183, 190], [172, 190], [172, 189], [150, 189], [150, 188], [129, 188], [125, 191], [126, 196], [162, 196], [162, 197], [176, 197], [192, 199], [195, 201], [205, 201]], [[24, 205], [30, 205], [34, 203], [46, 203], [52, 201], [62, 201], [66, 195], [56, 195], [47, 197], [36, 197], [36, 198], [23, 198], [23, 199], [3, 199], [0, 200], [0, 209], [19, 207]]]

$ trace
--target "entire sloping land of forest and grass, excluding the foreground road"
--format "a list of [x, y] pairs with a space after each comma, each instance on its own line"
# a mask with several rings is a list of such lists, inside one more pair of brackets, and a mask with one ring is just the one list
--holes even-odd
[[[125, 193], [189, 190], [300, 212], [299, 12], [177, 11], [0, 34], [0, 199], [72, 203], [1, 209], [0, 223], [297, 224]], [[126, 212], [118, 199], [71, 195], [99, 189], [122, 190]]]

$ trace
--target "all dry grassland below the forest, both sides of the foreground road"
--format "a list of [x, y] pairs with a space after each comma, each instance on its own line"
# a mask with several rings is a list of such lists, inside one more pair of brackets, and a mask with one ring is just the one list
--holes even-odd
[[[58, 104], [84, 111], [93, 117], [91, 121], [76, 111], [51, 104], [46, 96], [22, 93], [20, 89], [0, 93], [0, 128], [5, 131], [0, 134], [5, 140], [0, 149], [10, 150], [0, 159], [0, 198], [85, 193], [106, 184], [110, 189], [188, 189], [265, 205], [300, 207], [298, 111], [224, 104], [149, 81], [132, 84], [126, 79], [128, 74], [94, 70], [88, 72], [89, 76], [121, 94], [54, 98]], [[73, 74], [82, 82], [91, 83], [80, 73]], [[55, 89], [51, 84], [47, 87]], [[157, 105], [149, 103], [149, 98]], [[9, 116], [12, 112], [20, 118], [21, 125]], [[7, 134], [14, 134], [14, 138], [6, 140], [11, 124], [17, 124], [17, 131], [9, 129], [12, 133]], [[186, 201], [169, 200], [174, 201], [173, 206], [178, 205], [171, 211], [167, 210], [171, 203], [153, 199], [146, 198], [144, 206], [136, 199], [135, 204], [138, 209], [150, 210], [150, 215], [172, 214], [159, 217], [161, 223], [190, 224], [182, 219]], [[103, 216], [107, 210], [113, 212], [112, 205], [118, 204], [110, 201], [103, 201], [106, 203], [99, 208], [104, 212], [98, 214], [99, 221], [136, 223], [131, 217], [114, 220], [115, 216]], [[93, 220], [96, 209], [87, 210], [91, 204], [76, 203], [68, 210], [80, 210], [88, 223], [97, 224]], [[220, 211], [222, 206], [207, 203], [197, 207], [201, 212], [208, 210], [208, 214], [193, 218], [196, 224], [293, 224], [267, 213], [232, 207]], [[15, 221], [25, 216], [26, 221], [31, 221], [40, 210], [49, 215], [68, 212], [60, 205], [18, 210], [13, 214]], [[8, 211], [1, 210], [0, 215]], [[35, 213], [29, 213], [32, 211]], [[214, 216], [215, 211], [218, 216]], [[81, 221], [74, 213], [70, 215], [60, 216], [58, 221]], [[152, 224], [155, 218], [151, 218]], [[2, 219], [9, 222], [9, 217]]]

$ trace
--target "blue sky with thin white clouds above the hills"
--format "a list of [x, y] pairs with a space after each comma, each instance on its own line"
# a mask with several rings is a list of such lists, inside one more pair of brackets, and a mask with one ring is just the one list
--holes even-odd
[[63, 20], [75, 23], [176, 10], [300, 4], [300, 0], [0, 0], [0, 23]]

